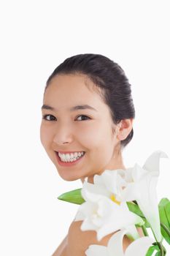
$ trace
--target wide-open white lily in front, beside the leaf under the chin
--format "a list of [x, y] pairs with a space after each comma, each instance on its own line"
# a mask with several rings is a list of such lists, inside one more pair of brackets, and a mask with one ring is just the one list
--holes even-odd
[[[83, 184], [82, 197], [85, 203], [80, 206], [74, 221], [83, 220], [81, 230], [96, 230], [97, 239], [113, 233], [123, 227], [129, 227], [128, 234], [132, 238], [139, 238], [135, 224], [143, 225], [141, 217], [128, 210], [126, 203], [115, 203], [114, 196], [107, 196], [104, 190], [101, 195], [95, 191], [94, 184]], [[90, 191], [87, 187], [94, 190]], [[113, 199], [113, 200], [112, 200]]]

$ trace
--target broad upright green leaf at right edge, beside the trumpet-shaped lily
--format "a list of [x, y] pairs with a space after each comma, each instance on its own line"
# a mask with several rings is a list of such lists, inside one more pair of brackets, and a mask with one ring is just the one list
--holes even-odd
[[[170, 244], [170, 201], [168, 198], [162, 198], [158, 204], [159, 216], [161, 221], [161, 234], [166, 242]], [[165, 227], [165, 228], [163, 228]]]

